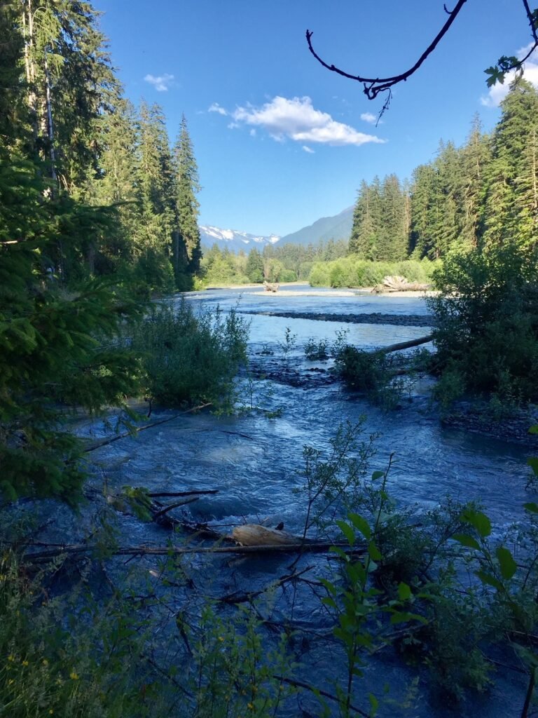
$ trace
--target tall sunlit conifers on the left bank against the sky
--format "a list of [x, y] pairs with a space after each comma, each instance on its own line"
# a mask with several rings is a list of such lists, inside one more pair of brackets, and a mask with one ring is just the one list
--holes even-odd
[[[70, 202], [87, 217], [113, 208], [91, 238], [71, 223], [69, 241], [47, 243], [34, 270], [63, 283], [102, 276], [146, 293], [187, 289], [201, 256], [187, 121], [171, 151], [161, 108], [123, 98], [89, 3], [3, 4], [0, 22], [2, 159], [46, 185], [34, 201], [57, 225]], [[25, 199], [11, 191], [4, 206]], [[32, 207], [21, 209], [30, 220]], [[26, 230], [9, 228], [3, 250], [34, 239]]]

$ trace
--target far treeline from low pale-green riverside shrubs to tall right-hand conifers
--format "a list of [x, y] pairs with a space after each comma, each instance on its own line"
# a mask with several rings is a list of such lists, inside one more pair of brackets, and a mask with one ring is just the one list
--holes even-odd
[[[484, 134], [478, 118], [466, 143], [440, 142], [438, 154], [420, 164], [410, 182], [395, 174], [362, 182], [349, 243], [268, 246], [263, 256], [226, 256], [222, 263], [237, 281], [293, 281], [368, 286], [379, 273], [407, 272], [427, 280], [424, 260], [450, 251], [510, 245], [527, 251], [538, 234], [538, 93], [526, 80], [512, 83], [494, 131]], [[251, 257], [252, 255], [252, 257]], [[216, 248], [202, 263], [216, 279]], [[411, 263], [401, 263], [412, 260]], [[368, 263], [378, 263], [375, 267]], [[405, 271], [404, 271], [405, 270]], [[231, 274], [229, 273], [232, 281]], [[382, 279], [382, 277], [381, 277]], [[234, 280], [236, 281], [236, 280]]]

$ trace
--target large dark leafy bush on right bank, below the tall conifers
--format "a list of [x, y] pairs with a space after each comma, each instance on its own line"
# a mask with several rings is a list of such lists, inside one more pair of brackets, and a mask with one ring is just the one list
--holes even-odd
[[537, 261], [512, 246], [451, 253], [434, 272], [434, 340], [468, 391], [538, 397]]

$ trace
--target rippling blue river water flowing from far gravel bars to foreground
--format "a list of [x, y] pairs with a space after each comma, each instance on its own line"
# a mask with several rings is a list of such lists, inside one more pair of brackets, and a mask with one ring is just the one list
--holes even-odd
[[[427, 382], [418, 383], [398, 409], [384, 412], [344, 391], [339, 383], [324, 381], [326, 375], [318, 370], [326, 368], [326, 363], [305, 359], [303, 345], [309, 337], [334, 340], [339, 330], [348, 330], [346, 341], [365, 349], [428, 335], [430, 316], [424, 299], [314, 291], [296, 286], [278, 294], [260, 289], [192, 292], [187, 301], [194, 307], [237, 307], [250, 321], [249, 353], [257, 370], [252, 377], [242, 379], [240, 404], [247, 409], [262, 406], [264, 411], [242, 411], [232, 416], [183, 414], [134, 438], [108, 444], [93, 452], [91, 460], [96, 477], [104, 476], [110, 487], [145, 486], [153, 491], [217, 489], [216, 495], [202, 497], [189, 506], [195, 521], [207, 522], [225, 532], [245, 522], [265, 521], [268, 526], [276, 526], [282, 521], [286, 530], [301, 533], [304, 497], [294, 489], [303, 483], [303, 447], [326, 448], [341, 422], [356, 423], [364, 416], [364, 436], [378, 434], [370, 470], [384, 469], [390, 454], [394, 454], [390, 494], [401, 505], [412, 506], [418, 516], [437, 506], [445, 495], [460, 501], [477, 500], [490, 516], [494, 532], [501, 535], [512, 523], [522, 521], [522, 505], [535, 500], [525, 489], [528, 447], [446, 428], [430, 406]], [[358, 315], [375, 315], [374, 323], [367, 322], [367, 317], [362, 317], [360, 323], [344, 321]], [[410, 316], [415, 317], [412, 326], [405, 320]], [[294, 341], [286, 354], [280, 345], [287, 328]], [[264, 363], [280, 363], [304, 381], [294, 382], [293, 386], [285, 379], [279, 381], [270, 371], [268, 376], [273, 378], [260, 378]], [[173, 414], [154, 409], [151, 418]], [[83, 433], [93, 437], [107, 430], [95, 423], [83, 427]], [[123, 543], [130, 545], [166, 542], [159, 527], [143, 524], [135, 517], [123, 518], [121, 531]], [[307, 560], [301, 559], [303, 567]], [[321, 561], [326, 559], [314, 559], [314, 563]], [[211, 583], [213, 592], [222, 594], [263, 587], [285, 574], [290, 562], [289, 556], [214, 556], [203, 561], [193, 559], [191, 569], [195, 583]], [[272, 615], [285, 615], [289, 600], [289, 592], [278, 595]], [[308, 600], [307, 594], [295, 600], [294, 606], [296, 625], [327, 632], [326, 615], [318, 603]], [[301, 648], [310, 682], [331, 685], [339, 670], [335, 666], [341, 661], [335, 650], [323, 637], [309, 639], [308, 645]], [[414, 675], [411, 669], [402, 667], [392, 651], [380, 652], [361, 679], [365, 687], [360, 704], [366, 707], [367, 692], [379, 695], [384, 684], [390, 684], [391, 695], [401, 699]], [[421, 674], [411, 709], [385, 707], [380, 714], [420, 718], [519, 715], [525, 676], [499, 669], [494, 679], [494, 688], [486, 694], [471, 694], [457, 707], [447, 707], [430, 688], [428, 675]], [[315, 700], [303, 701], [305, 706], [316, 714]], [[287, 715], [298, 715], [297, 711], [296, 706]]]

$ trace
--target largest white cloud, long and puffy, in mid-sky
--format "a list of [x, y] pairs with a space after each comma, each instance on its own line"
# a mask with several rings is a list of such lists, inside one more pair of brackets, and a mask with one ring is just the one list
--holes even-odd
[[236, 123], [263, 127], [277, 141], [317, 142], [332, 146], [384, 142], [334, 120], [329, 113], [316, 110], [309, 97], [291, 99], [277, 96], [261, 107], [238, 107], [232, 114]]

